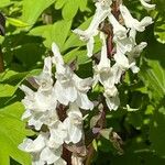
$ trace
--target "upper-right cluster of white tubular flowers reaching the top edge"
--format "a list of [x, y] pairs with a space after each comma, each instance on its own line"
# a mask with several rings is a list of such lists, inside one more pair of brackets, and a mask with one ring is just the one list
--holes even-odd
[[[146, 3], [146, 0], [140, 0], [142, 6], [147, 10], [154, 9], [155, 4]], [[148, 0], [147, 0], [148, 1]], [[94, 66], [94, 86], [100, 82], [105, 92], [107, 106], [110, 110], [117, 110], [120, 105], [119, 92], [117, 85], [120, 82], [122, 75], [129, 68], [133, 73], [139, 72], [139, 67], [135, 65], [135, 58], [140, 56], [143, 48], [146, 46], [145, 42], [136, 44], [135, 36], [136, 32], [143, 32], [145, 26], [153, 23], [152, 18], [145, 16], [141, 21], [134, 19], [128, 8], [124, 4], [119, 6], [119, 11], [122, 16], [122, 23], [118, 21], [116, 15], [112, 13], [110, 6], [112, 0], [98, 0], [96, 2], [96, 13], [89, 25], [85, 31], [76, 29], [74, 33], [79, 35], [80, 40], [87, 42], [87, 55], [92, 56], [95, 40], [94, 36], [100, 35], [102, 48], [100, 53], [100, 62]], [[112, 28], [112, 44], [113, 46], [113, 58], [114, 64], [111, 65], [111, 61], [108, 57], [107, 48], [107, 35], [99, 31], [99, 25], [108, 20]]]

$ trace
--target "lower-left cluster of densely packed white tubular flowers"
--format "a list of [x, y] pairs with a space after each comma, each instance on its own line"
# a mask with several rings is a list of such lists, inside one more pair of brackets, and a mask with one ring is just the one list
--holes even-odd
[[[40, 135], [35, 140], [25, 139], [19, 147], [32, 154], [34, 165], [65, 165], [61, 157], [63, 144], [81, 141], [84, 117], [80, 109], [94, 108], [87, 96], [92, 78], [81, 79], [65, 65], [55, 43], [52, 51], [54, 56], [45, 58], [42, 74], [34, 77], [37, 90], [33, 91], [24, 85], [20, 87], [25, 92], [22, 102], [26, 111], [22, 119], [28, 119], [28, 124], [40, 131]], [[55, 75], [52, 74], [54, 64]], [[59, 114], [62, 105], [68, 107], [65, 119]]]

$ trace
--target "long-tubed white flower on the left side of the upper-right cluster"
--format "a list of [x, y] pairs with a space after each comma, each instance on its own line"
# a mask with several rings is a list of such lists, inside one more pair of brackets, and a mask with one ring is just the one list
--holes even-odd
[[87, 55], [89, 57], [92, 56], [94, 50], [94, 36], [98, 34], [98, 26], [99, 24], [110, 14], [110, 4], [112, 3], [111, 0], [100, 0], [96, 2], [96, 13], [92, 18], [92, 21], [89, 28], [85, 31], [76, 29], [73, 32], [80, 36], [80, 40], [87, 42]]

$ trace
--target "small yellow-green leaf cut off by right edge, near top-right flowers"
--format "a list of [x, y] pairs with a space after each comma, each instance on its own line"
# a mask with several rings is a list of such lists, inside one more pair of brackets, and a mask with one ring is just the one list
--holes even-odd
[[155, 20], [154, 34], [158, 42], [165, 44], [165, 13], [158, 13]]

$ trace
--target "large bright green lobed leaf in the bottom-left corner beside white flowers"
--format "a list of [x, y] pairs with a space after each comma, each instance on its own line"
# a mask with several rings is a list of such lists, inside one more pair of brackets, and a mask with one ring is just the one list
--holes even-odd
[[0, 164], [9, 165], [9, 157], [23, 165], [30, 165], [30, 155], [18, 148], [26, 135], [33, 133], [25, 130], [25, 124], [20, 120], [23, 106], [15, 102], [0, 109]]

